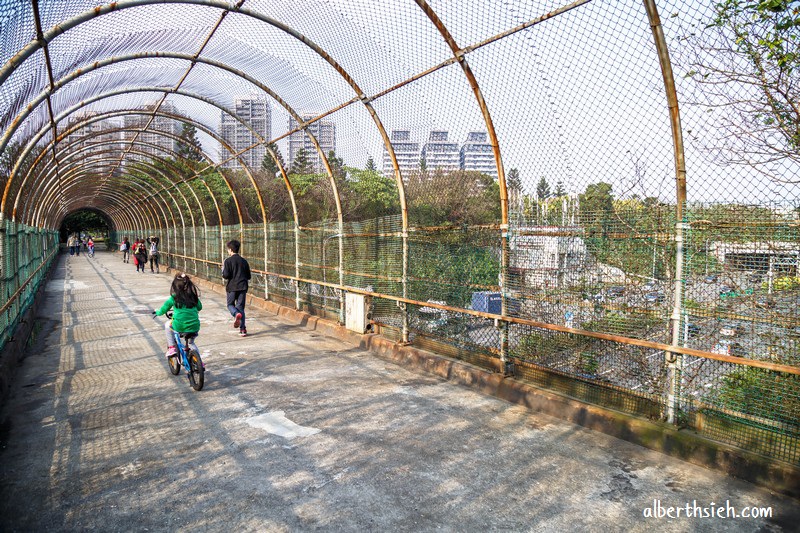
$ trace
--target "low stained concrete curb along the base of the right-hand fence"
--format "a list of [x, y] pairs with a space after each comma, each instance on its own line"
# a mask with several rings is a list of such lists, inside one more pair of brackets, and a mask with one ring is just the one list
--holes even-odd
[[[225, 288], [220, 284], [203, 279], [198, 279], [198, 284], [213, 292], [225, 294]], [[533, 411], [568, 420], [692, 464], [725, 472], [773, 491], [800, 497], [800, 467], [713, 441], [692, 430], [678, 429], [670, 424], [589, 404], [463, 361], [426, 352], [414, 346], [402, 346], [380, 335], [360, 335], [335, 322], [263, 298], [248, 295], [247, 300], [250, 306], [368, 349], [399, 365], [466, 385], [485, 394], [524, 405]], [[497, 370], [499, 371], [499, 365]]]

